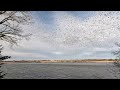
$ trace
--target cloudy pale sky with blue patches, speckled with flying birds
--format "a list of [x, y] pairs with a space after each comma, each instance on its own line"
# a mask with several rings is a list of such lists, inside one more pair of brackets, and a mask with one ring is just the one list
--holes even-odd
[[31, 11], [32, 33], [19, 46], [3, 45], [9, 60], [112, 59], [120, 42], [119, 11]]

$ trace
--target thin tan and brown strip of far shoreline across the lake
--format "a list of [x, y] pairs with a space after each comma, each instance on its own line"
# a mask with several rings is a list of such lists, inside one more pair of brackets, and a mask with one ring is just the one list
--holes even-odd
[[[116, 59], [85, 59], [85, 60], [11, 60], [0, 63], [105, 63], [114, 62]], [[119, 61], [119, 60], [118, 60]]]

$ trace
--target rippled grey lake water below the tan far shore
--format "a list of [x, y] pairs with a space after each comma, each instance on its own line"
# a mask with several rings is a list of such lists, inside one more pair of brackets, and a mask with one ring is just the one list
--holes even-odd
[[9, 63], [1, 69], [4, 79], [114, 79], [113, 68], [111, 63]]

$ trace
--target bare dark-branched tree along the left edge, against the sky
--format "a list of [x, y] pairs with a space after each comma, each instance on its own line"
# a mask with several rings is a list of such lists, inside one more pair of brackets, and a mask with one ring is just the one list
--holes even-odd
[[[28, 38], [31, 34], [24, 34], [21, 25], [29, 24], [31, 16], [27, 11], [0, 11], [0, 41], [17, 45], [18, 41], [23, 38]], [[1, 42], [0, 42], [1, 44]], [[2, 60], [10, 58], [10, 56], [1, 55], [2, 45], [0, 45], [0, 68]], [[5, 74], [0, 70], [0, 78]]]

